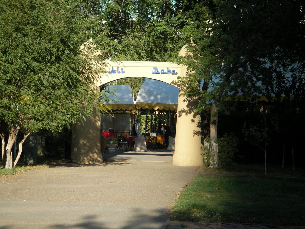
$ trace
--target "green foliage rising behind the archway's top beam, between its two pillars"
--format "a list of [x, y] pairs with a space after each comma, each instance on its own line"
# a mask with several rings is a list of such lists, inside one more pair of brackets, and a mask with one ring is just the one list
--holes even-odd
[[113, 60], [168, 61], [181, 48], [172, 1], [117, 1], [102, 4], [99, 21], [109, 37]]

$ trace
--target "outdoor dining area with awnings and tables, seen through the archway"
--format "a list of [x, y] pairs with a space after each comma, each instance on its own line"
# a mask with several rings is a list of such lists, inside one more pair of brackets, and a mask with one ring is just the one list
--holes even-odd
[[[101, 135], [113, 141], [116, 151], [174, 151], [178, 88], [146, 78], [134, 101], [130, 86], [107, 86], [115, 90], [116, 96], [115, 102], [109, 103], [113, 115], [101, 115]], [[165, 87], [162, 92], [156, 90], [160, 86]], [[134, 134], [132, 126], [136, 121], [138, 129]], [[170, 126], [168, 135], [164, 127]]]

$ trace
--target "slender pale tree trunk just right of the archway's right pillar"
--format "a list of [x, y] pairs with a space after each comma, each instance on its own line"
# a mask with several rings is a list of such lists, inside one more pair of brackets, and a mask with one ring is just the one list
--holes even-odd
[[217, 104], [213, 103], [211, 107], [211, 121], [210, 121], [210, 141], [211, 141], [211, 158], [210, 167], [218, 167], [218, 145], [217, 140], [217, 124], [218, 124], [218, 108]]

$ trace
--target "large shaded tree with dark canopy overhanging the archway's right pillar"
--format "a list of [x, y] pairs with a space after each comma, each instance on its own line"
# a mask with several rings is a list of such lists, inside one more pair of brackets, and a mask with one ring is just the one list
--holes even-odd
[[302, 97], [304, 5], [289, 0], [207, 0], [192, 6], [181, 8], [186, 11], [180, 31], [189, 43], [189, 55], [181, 60], [189, 67], [189, 77], [181, 81], [188, 98], [198, 100], [196, 112], [205, 112], [207, 104], [212, 107], [210, 139], [217, 158], [218, 112], [228, 97]]

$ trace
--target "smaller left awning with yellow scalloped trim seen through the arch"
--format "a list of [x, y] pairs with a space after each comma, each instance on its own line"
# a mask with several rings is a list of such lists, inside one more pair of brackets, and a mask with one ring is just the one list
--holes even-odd
[[110, 101], [108, 109], [121, 110], [121, 111], [133, 111], [135, 110], [135, 103], [131, 94], [130, 85], [106, 85], [109, 90], [112, 90], [116, 96], [108, 93]]

